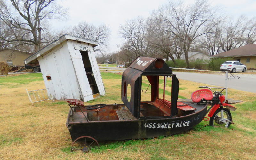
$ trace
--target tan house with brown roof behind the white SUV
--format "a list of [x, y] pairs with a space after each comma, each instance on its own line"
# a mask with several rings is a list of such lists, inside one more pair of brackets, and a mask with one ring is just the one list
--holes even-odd
[[215, 54], [210, 58], [226, 58], [230, 57], [230, 60], [237, 60], [247, 68], [256, 68], [256, 44], [248, 44], [239, 48], [235, 48], [226, 52]]

